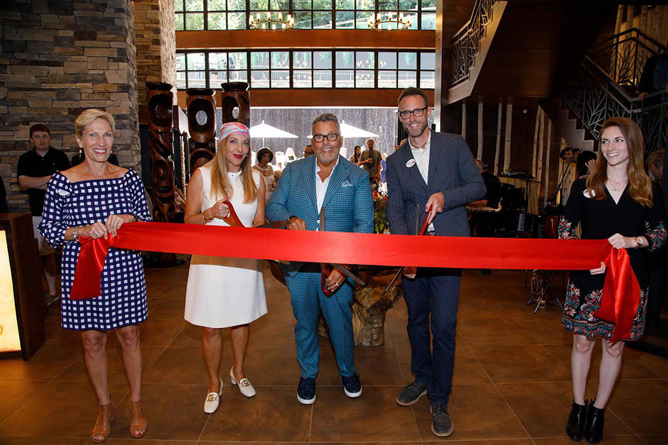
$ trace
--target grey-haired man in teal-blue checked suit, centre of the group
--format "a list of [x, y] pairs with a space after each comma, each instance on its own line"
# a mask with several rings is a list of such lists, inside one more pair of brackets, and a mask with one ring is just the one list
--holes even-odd
[[[373, 232], [369, 175], [339, 155], [342, 144], [335, 115], [324, 113], [313, 120], [311, 145], [315, 156], [293, 161], [283, 169], [267, 203], [269, 221], [289, 219], [290, 230], [319, 230], [319, 215], [324, 208], [325, 230], [329, 232]], [[334, 294], [327, 297], [321, 290], [319, 264], [292, 262], [282, 268], [297, 319], [295, 342], [301, 366], [297, 400], [303, 404], [315, 402], [321, 309], [329, 326], [343, 390], [349, 397], [360, 396], [362, 385], [353, 363], [353, 281], [333, 270], [326, 286]]]

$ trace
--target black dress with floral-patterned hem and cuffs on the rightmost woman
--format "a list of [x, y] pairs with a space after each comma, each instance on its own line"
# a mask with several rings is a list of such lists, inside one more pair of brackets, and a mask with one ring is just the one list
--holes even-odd
[[[619, 202], [605, 189], [606, 199], [592, 199], [593, 191], [586, 189], [587, 179], [573, 182], [564, 215], [559, 221], [559, 238], [578, 238], [575, 228], [582, 229], [583, 240], [606, 240], [614, 234], [623, 236], [645, 236], [649, 250], [657, 250], [666, 242], [666, 225], [661, 190], [653, 188], [651, 209], [644, 207], [629, 195], [629, 186], [622, 193]], [[645, 312], [647, 310], [647, 288], [649, 285], [645, 270], [647, 249], [628, 249], [631, 268], [640, 284], [640, 304], [633, 320], [631, 336], [626, 340], [639, 340], [645, 333]], [[588, 270], [570, 272], [566, 289], [564, 316], [561, 324], [574, 334], [587, 338], [603, 336], [612, 338], [615, 324], [597, 318], [594, 313], [601, 306], [601, 294], [605, 274], [592, 275]]]

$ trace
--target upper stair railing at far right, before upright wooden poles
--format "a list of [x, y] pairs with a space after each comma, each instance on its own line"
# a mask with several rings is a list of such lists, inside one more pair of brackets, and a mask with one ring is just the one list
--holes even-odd
[[640, 29], [631, 28], [598, 43], [589, 57], [618, 85], [638, 91], [645, 62], [665, 51], [665, 46]]

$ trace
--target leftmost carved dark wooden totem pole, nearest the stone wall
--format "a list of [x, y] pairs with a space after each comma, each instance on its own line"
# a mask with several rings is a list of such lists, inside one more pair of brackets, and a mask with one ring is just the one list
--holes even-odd
[[[151, 151], [153, 220], [174, 222], [174, 141], [172, 139], [172, 85], [146, 82], [148, 146]], [[159, 253], [158, 263], [174, 264], [174, 254]]]

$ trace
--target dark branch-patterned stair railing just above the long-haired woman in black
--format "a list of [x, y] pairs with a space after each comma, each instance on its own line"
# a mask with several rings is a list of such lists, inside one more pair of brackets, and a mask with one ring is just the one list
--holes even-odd
[[585, 57], [562, 97], [594, 139], [599, 139], [606, 119], [629, 117], [641, 127], [647, 153], [664, 148], [668, 131], [668, 101], [664, 92], [647, 95], [644, 101], [635, 95], [630, 95], [625, 84], [620, 85], [593, 59]]

